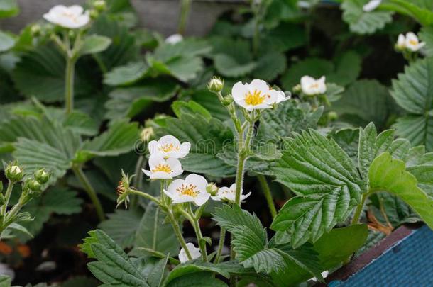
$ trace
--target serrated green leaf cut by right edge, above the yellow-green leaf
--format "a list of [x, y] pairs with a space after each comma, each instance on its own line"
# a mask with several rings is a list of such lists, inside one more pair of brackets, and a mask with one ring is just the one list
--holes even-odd
[[433, 150], [432, 96], [433, 58], [418, 60], [405, 67], [404, 74], [393, 80], [391, 96], [407, 116], [395, 123], [395, 132], [410, 140], [412, 145], [425, 145]]

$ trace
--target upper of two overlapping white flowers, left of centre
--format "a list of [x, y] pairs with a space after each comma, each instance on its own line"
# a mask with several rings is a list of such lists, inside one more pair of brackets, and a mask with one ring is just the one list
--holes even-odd
[[180, 141], [176, 137], [164, 135], [158, 141], [150, 141], [148, 147], [150, 155], [159, 154], [165, 158], [182, 159], [190, 152], [191, 144], [190, 142], [180, 144]]

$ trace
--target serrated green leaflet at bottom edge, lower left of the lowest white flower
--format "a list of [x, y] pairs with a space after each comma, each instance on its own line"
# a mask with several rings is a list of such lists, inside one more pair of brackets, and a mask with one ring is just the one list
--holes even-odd
[[131, 259], [102, 230], [94, 230], [93, 240], [87, 241], [97, 261], [87, 264], [99, 281], [114, 286], [148, 286]]

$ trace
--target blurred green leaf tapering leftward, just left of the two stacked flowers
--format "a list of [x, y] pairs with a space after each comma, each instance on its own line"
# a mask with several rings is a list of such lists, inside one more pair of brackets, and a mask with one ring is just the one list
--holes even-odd
[[91, 157], [115, 156], [129, 152], [135, 147], [138, 132], [137, 123], [118, 120], [112, 123], [109, 130], [106, 130], [102, 135], [84, 142], [77, 158], [84, 157], [87, 160]]

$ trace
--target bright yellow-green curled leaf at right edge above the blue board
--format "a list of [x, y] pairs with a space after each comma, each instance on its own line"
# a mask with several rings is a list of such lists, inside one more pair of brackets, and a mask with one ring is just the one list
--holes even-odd
[[371, 191], [388, 191], [399, 196], [433, 228], [433, 198], [417, 186], [417, 179], [405, 170], [405, 162], [388, 152], [374, 159], [368, 171]]

